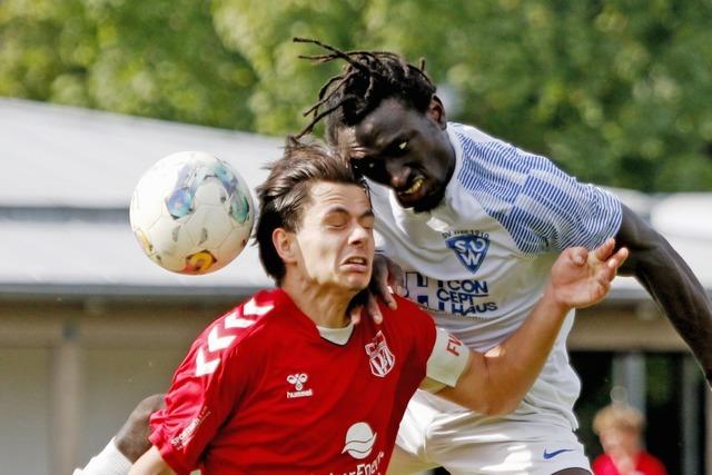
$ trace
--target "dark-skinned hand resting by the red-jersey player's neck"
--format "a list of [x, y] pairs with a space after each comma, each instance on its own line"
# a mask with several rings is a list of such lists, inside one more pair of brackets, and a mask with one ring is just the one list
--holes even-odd
[[[396, 309], [397, 304], [393, 298], [393, 293], [399, 296], [405, 295], [405, 288], [403, 287], [403, 269], [382, 254], [374, 256], [374, 269], [370, 277], [370, 291], [366, 299], [366, 313], [373, 318], [376, 324], [383, 323], [383, 315], [378, 308], [377, 298], [380, 298], [389, 308]], [[354, 324], [360, 321], [360, 314], [363, 308], [360, 306], [354, 307], [350, 311], [350, 318]]]

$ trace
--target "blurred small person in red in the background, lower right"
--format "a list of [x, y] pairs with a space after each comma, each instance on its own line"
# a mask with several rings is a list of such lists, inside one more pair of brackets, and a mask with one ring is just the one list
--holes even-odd
[[595, 475], [668, 475], [665, 466], [642, 447], [645, 420], [635, 408], [614, 403], [596, 413], [593, 429], [604, 453], [593, 462]]

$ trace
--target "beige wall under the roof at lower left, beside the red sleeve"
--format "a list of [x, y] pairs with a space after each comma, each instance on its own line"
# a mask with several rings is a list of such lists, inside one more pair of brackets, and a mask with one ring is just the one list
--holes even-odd
[[0, 475], [83, 466], [229, 306], [0, 301]]

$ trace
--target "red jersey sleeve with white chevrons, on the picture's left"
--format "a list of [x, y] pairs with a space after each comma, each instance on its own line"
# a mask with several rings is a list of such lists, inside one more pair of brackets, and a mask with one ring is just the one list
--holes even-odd
[[230, 328], [228, 318], [211, 324], [196, 339], [176, 370], [166, 394], [166, 408], [151, 416], [150, 442], [177, 474], [196, 469], [212, 441], [249, 387], [245, 336], [249, 329]]

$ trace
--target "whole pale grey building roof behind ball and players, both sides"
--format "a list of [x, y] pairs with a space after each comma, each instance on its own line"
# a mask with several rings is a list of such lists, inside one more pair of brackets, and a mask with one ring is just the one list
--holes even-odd
[[[0, 98], [0, 295], [229, 297], [271, 286], [249, 246], [226, 268], [181, 276], [141, 253], [128, 224], [136, 182], [159, 158], [209, 151], [254, 189], [283, 140], [155, 119]], [[614, 194], [659, 229], [712, 289], [712, 194]], [[630, 278], [612, 298], [645, 298]]]

